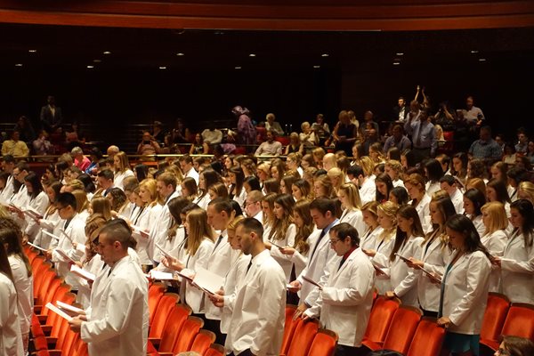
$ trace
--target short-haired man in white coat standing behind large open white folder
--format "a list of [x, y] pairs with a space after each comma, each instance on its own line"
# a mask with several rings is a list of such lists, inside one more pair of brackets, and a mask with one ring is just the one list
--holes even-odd
[[[235, 211], [232, 209], [230, 200], [216, 198], [209, 202], [206, 213], [207, 223], [214, 228], [214, 231], [221, 232], [215, 240], [214, 249], [207, 259], [205, 268], [221, 277], [225, 277], [239, 257], [239, 254], [232, 249], [228, 242], [229, 233], [227, 231], [228, 225], [235, 216]], [[206, 308], [206, 323], [204, 327], [214, 332], [216, 336], [215, 343], [224, 344], [225, 336], [221, 331], [221, 310], [209, 301], [209, 295], [207, 294], [204, 295], [204, 305]]]

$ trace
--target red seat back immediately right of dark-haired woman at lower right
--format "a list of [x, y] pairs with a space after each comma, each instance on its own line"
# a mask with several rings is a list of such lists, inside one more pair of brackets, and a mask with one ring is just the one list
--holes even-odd
[[484, 311], [484, 319], [482, 319], [481, 340], [498, 342], [498, 336], [505, 325], [508, 308], [510, 308], [510, 301], [506, 295], [498, 293], [488, 295], [488, 304]]

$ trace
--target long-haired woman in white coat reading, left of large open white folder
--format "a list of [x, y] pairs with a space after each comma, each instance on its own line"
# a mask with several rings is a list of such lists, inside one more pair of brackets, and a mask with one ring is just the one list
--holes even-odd
[[[204, 268], [214, 250], [214, 232], [207, 223], [206, 210], [194, 209], [185, 218], [187, 231], [187, 248], [184, 261], [174, 257], [164, 257], [162, 263], [174, 271], [193, 279], [198, 268]], [[190, 306], [195, 314], [203, 313], [202, 301], [204, 292], [190, 284], [190, 280], [182, 277], [180, 281], [180, 299]]]

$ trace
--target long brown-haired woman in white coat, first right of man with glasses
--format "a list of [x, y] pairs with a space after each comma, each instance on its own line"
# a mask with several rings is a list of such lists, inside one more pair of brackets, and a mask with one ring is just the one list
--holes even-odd
[[398, 297], [405, 305], [418, 307], [417, 275], [398, 255], [404, 258], [419, 256], [425, 239], [419, 214], [413, 206], [401, 206], [397, 211], [397, 235], [390, 255], [390, 280], [392, 290], [385, 292], [388, 298]]

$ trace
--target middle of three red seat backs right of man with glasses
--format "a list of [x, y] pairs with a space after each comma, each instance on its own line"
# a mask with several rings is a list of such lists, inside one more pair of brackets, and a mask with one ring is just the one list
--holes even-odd
[[418, 308], [401, 305], [393, 316], [392, 324], [385, 336], [383, 348], [401, 352], [405, 355], [416, 333], [421, 314], [421, 310]]

